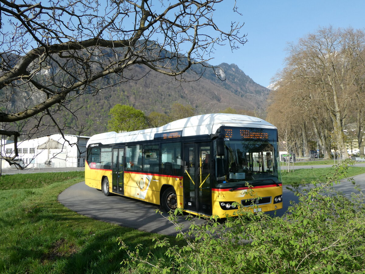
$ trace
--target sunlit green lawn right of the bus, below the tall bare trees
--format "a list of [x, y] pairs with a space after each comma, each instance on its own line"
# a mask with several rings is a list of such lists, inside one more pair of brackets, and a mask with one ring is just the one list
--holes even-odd
[[[292, 183], [311, 183], [314, 180], [320, 180], [321, 182], [325, 181], [327, 174], [333, 174], [335, 168], [334, 167], [326, 167], [326, 168], [302, 168], [298, 170], [294, 170], [292, 172], [281, 171], [281, 176], [283, 180], [283, 184], [292, 184]], [[347, 170], [348, 173], [343, 176], [343, 178], [349, 178], [355, 175], [365, 173], [365, 167], [354, 167], [350, 166]]]

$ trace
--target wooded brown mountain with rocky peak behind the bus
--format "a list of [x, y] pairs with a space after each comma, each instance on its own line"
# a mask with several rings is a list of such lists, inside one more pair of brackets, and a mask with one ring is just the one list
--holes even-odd
[[[222, 63], [219, 67], [215, 70], [219, 75], [217, 77], [213, 69], [194, 65], [183, 76], [186, 82], [181, 82], [173, 77], [149, 71], [146, 66], [135, 66], [132, 70], [124, 72], [123, 77], [131, 79], [146, 76], [140, 80], [129, 80], [111, 86], [94, 96], [79, 96], [71, 102], [70, 109], [78, 109], [78, 123], [88, 128], [83, 133], [88, 136], [107, 131], [109, 110], [117, 103], [131, 105], [144, 111], [146, 115], [152, 111], [168, 113], [172, 104], [176, 102], [191, 105], [196, 114], [216, 113], [228, 107], [264, 114], [269, 89], [255, 83], [235, 64]], [[201, 77], [194, 73], [201, 70], [205, 70]], [[19, 93], [16, 94], [11, 98], [11, 108], [15, 111], [35, 103], [29, 96], [31, 92], [23, 92], [23, 97], [19, 96]], [[39, 96], [43, 95], [36, 96], [40, 99]], [[57, 115], [56, 119], [61, 123], [65, 122], [70, 128], [76, 128], [76, 118], [71, 114], [64, 114], [62, 117]], [[31, 129], [34, 125], [34, 122], [27, 123], [26, 128]], [[57, 129], [47, 129], [43, 134], [53, 133], [55, 130]], [[72, 130], [65, 133], [74, 134]]]

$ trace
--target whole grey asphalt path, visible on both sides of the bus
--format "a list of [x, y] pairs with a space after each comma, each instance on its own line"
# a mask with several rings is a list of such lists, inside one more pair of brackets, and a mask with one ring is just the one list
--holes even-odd
[[[328, 165], [331, 167], [332, 165]], [[357, 164], [365, 166], [365, 164]], [[296, 166], [299, 167], [299, 166]], [[321, 168], [323, 165], [300, 166], [301, 168]], [[365, 174], [353, 177], [362, 191], [365, 191]], [[354, 186], [349, 180], [343, 179], [340, 184], [334, 186], [346, 197], [354, 192]], [[176, 235], [179, 230], [167, 219], [167, 214], [158, 214], [158, 206], [136, 201], [134, 199], [120, 197], [118, 195], [106, 197], [101, 191], [89, 187], [85, 182], [70, 186], [58, 196], [58, 201], [67, 208], [96, 220], [118, 224], [123, 227], [135, 228], [140, 231], [159, 233], [164, 235]], [[283, 209], [276, 210], [276, 216], [283, 216], [290, 206], [290, 201], [297, 202], [294, 193], [283, 186]], [[186, 216], [185, 216], [186, 217]], [[179, 216], [178, 221], [183, 225], [183, 231], [187, 231], [191, 221]], [[196, 224], [204, 223], [203, 219], [193, 218]]]

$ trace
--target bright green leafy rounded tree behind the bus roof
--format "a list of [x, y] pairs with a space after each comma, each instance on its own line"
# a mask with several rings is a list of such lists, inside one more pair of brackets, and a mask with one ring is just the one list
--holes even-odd
[[111, 115], [108, 121], [109, 130], [127, 132], [148, 128], [145, 114], [132, 106], [116, 104], [110, 109], [109, 115]]

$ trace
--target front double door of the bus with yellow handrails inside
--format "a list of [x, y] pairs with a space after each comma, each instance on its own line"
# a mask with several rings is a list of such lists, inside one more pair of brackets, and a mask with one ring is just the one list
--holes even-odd
[[211, 215], [210, 143], [184, 145], [184, 209]]

